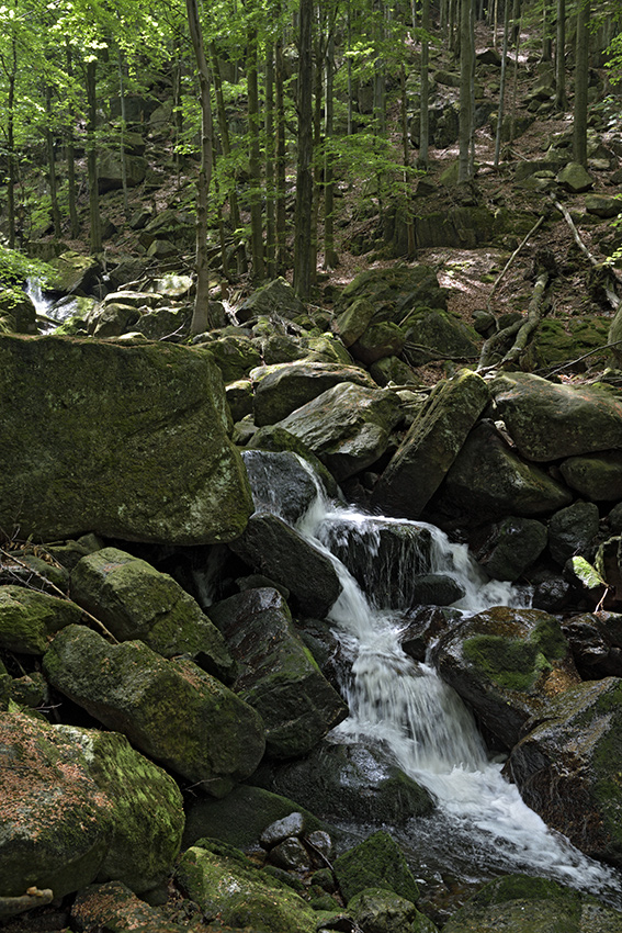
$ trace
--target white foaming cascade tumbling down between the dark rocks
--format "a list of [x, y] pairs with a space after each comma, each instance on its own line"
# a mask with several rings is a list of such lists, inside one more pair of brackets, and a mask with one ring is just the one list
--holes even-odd
[[[336, 507], [318, 495], [297, 527], [330, 554], [325, 530], [336, 520], [364, 529], [366, 539], [374, 526], [391, 521]], [[473, 614], [498, 605], [528, 605], [524, 591], [486, 582], [464, 546], [451, 544], [439, 529], [425, 527], [433, 540], [431, 570], [454, 575], [465, 589], [455, 607]], [[352, 656], [352, 679], [344, 686], [350, 716], [332, 731], [332, 741], [381, 743], [406, 774], [431, 793], [440, 814], [440, 823], [430, 833], [432, 846], [439, 844], [434, 836], [448, 835], [442, 844], [466, 846], [468, 859], [484, 870], [543, 874], [615, 897], [620, 891], [615, 873], [551, 832], [523, 803], [516, 786], [502, 777], [501, 764], [489, 760], [460, 697], [430, 666], [404, 653], [398, 614], [372, 607], [343, 564], [330, 557], [343, 589], [329, 618]], [[420, 832], [419, 825], [414, 832]]]

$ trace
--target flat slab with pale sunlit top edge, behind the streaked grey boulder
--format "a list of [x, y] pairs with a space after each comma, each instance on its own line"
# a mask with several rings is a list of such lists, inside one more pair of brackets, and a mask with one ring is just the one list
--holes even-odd
[[306, 360], [251, 370], [255, 384], [255, 424], [273, 425], [341, 382], [376, 389], [363, 369]]

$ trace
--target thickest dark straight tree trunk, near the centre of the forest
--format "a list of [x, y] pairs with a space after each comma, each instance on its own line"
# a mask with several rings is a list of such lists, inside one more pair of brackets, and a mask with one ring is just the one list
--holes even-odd
[[313, 211], [313, 0], [301, 0], [298, 44], [298, 155], [294, 233], [294, 289], [308, 300], [312, 278]]

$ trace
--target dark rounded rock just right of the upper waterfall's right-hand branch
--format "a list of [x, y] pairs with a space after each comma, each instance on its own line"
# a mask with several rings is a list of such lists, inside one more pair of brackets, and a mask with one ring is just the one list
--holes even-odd
[[546, 526], [534, 518], [511, 516], [488, 527], [474, 557], [494, 580], [514, 583], [546, 547]]

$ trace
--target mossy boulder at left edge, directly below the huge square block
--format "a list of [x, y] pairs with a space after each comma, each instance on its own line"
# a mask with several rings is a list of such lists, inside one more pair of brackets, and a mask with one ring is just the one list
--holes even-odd
[[68, 599], [24, 586], [0, 586], [0, 648], [19, 654], [45, 654], [50, 637], [78, 625], [82, 610]]

